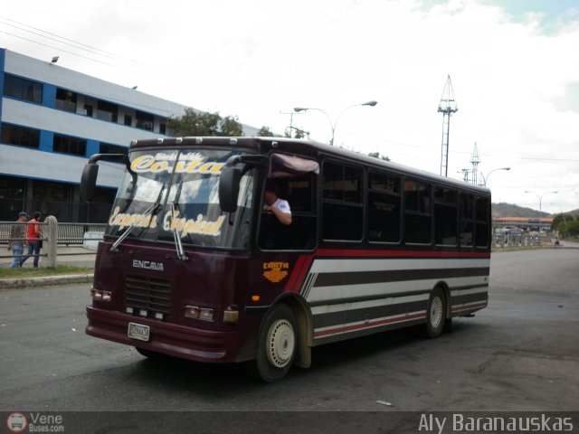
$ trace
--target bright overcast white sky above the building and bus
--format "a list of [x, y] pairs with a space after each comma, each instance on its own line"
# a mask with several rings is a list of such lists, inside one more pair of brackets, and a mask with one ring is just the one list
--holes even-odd
[[[476, 143], [493, 202], [538, 210], [541, 196], [545, 212], [579, 208], [579, 0], [3, 6], [8, 50], [58, 55], [58, 66], [279, 134], [291, 122], [328, 142], [335, 127], [337, 146], [435, 174], [450, 74], [458, 111], [448, 175], [472, 169]], [[327, 115], [291, 116], [294, 107]]]

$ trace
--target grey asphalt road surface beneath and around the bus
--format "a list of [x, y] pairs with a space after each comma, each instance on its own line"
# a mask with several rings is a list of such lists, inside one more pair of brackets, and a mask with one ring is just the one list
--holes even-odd
[[85, 335], [86, 284], [1, 291], [0, 410], [579, 410], [579, 250], [497, 253], [490, 278], [451, 334], [321, 346], [270, 385]]

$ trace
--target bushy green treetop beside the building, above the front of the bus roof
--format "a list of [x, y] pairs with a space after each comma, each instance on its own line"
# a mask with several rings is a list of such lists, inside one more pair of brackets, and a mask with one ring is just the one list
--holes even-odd
[[185, 109], [185, 114], [169, 118], [167, 127], [173, 129], [176, 137], [243, 136], [242, 124], [237, 117], [222, 118], [219, 112], [209, 113], [195, 109]]

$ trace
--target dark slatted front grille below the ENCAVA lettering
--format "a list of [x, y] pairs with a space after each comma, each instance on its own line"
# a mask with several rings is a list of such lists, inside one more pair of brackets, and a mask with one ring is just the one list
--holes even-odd
[[127, 276], [127, 307], [168, 314], [171, 309], [171, 282], [164, 278]]

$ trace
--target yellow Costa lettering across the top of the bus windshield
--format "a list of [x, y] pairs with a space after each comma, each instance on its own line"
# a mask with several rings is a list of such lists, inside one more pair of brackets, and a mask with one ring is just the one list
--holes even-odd
[[[151, 172], [156, 174], [159, 172], [171, 172], [173, 170], [173, 161], [170, 162], [169, 159], [166, 154], [138, 156], [133, 160], [130, 168], [137, 173]], [[219, 175], [223, 165], [223, 163], [213, 161], [205, 162], [203, 158], [198, 156], [191, 158], [190, 155], [186, 155], [179, 157], [179, 161], [176, 162], [175, 172], [177, 174]]]

